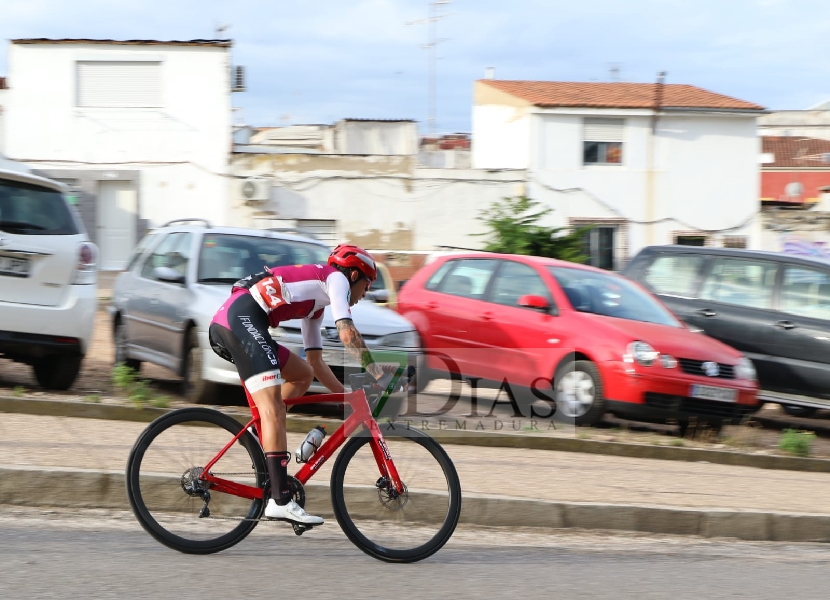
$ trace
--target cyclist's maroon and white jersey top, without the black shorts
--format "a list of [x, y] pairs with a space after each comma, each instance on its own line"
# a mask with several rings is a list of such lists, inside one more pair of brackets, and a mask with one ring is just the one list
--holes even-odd
[[302, 319], [301, 331], [306, 349], [322, 348], [323, 309], [331, 305], [335, 322], [351, 319], [349, 280], [328, 265], [291, 265], [268, 268], [240, 279], [234, 292], [247, 291], [268, 314], [272, 327], [283, 321]]

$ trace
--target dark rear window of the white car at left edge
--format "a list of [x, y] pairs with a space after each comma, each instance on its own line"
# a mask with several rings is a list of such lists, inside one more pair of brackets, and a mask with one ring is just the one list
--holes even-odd
[[0, 180], [0, 230], [19, 235], [79, 233], [63, 194], [10, 180]]

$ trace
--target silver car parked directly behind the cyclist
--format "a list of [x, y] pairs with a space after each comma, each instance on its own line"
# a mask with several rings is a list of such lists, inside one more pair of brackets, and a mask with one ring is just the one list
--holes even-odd
[[[115, 361], [139, 369], [142, 362], [166, 367], [183, 378], [182, 393], [192, 402], [212, 400], [215, 384], [239, 385], [233, 364], [208, 343], [208, 326], [237, 280], [263, 266], [325, 263], [330, 248], [315, 239], [284, 232], [212, 227], [201, 219], [172, 221], [149, 232], [113, 286], [109, 307]], [[324, 319], [326, 357], [335, 373], [358, 368], [345, 358], [329, 313]], [[417, 360], [420, 340], [412, 323], [363, 300], [352, 307], [367, 345]], [[281, 344], [303, 355], [299, 321], [271, 330]], [[341, 352], [338, 352], [341, 350]], [[322, 390], [315, 382], [313, 390]]]

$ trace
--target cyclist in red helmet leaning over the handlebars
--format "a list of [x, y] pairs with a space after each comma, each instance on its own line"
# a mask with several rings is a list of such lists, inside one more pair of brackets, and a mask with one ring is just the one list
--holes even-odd
[[[351, 318], [350, 307], [363, 298], [377, 277], [374, 259], [362, 248], [340, 244], [327, 262], [266, 266], [264, 271], [237, 281], [209, 329], [214, 352], [236, 365], [239, 378], [259, 411], [262, 448], [271, 481], [265, 516], [305, 525], [320, 525], [323, 519], [307, 514], [291, 498], [286, 469], [291, 454], [285, 435], [283, 399], [304, 394], [314, 377], [333, 393], [345, 392], [343, 384], [323, 362], [320, 325], [325, 306], [331, 305], [346, 350], [376, 380], [391, 378], [372, 361]], [[289, 319], [302, 319], [307, 362], [277, 344], [268, 333], [269, 327]]]

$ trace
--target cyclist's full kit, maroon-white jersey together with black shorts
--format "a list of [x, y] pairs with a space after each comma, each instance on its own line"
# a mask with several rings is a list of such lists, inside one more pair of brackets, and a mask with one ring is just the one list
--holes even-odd
[[335, 321], [350, 319], [350, 285], [328, 265], [275, 267], [237, 281], [231, 297], [219, 308], [209, 329], [211, 348], [236, 364], [249, 392], [280, 385], [280, 366], [289, 351], [268, 333], [283, 321], [302, 319], [306, 350], [323, 347], [323, 310], [331, 305]]

